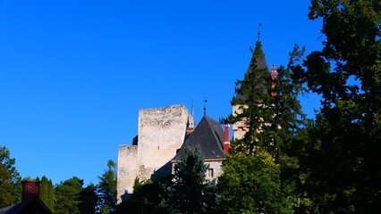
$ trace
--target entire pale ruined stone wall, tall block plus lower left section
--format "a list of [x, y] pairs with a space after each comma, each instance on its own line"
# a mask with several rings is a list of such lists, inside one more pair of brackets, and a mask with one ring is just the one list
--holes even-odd
[[119, 146], [118, 203], [125, 191], [132, 193], [135, 177], [142, 181], [171, 173], [170, 161], [194, 120], [184, 105], [172, 105], [140, 110], [138, 126], [138, 145]]

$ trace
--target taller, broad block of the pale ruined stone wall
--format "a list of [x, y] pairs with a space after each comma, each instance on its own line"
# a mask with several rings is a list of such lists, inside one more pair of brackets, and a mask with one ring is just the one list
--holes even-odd
[[[174, 158], [184, 142], [190, 113], [183, 105], [144, 109], [139, 112], [139, 177], [151, 174]], [[193, 121], [190, 121], [193, 123]]]

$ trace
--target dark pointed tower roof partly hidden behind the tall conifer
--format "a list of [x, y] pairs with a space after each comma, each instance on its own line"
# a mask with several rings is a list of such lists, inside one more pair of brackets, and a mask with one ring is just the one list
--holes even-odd
[[[269, 89], [270, 88], [267, 88], [267, 86], [270, 86], [270, 85], [269, 85], [269, 83], [267, 84], [267, 81], [270, 81], [271, 75], [270, 75], [270, 72], [268, 71], [268, 66], [267, 66], [267, 62], [266, 62], [266, 59], [265, 59], [265, 53], [263, 53], [262, 44], [261, 44], [260, 41], [258, 41], [257, 44], [256, 44], [256, 47], [255, 47], [255, 49], [253, 51], [253, 55], [251, 57], [251, 60], [250, 60], [248, 69], [246, 70], [244, 78], [246, 78], [246, 75], [248, 75], [248, 73], [250, 73], [250, 71], [256, 65], [257, 65], [258, 69], [263, 70], [263, 72], [267, 72], [264, 75], [265, 77], [268, 76], [267, 79], [263, 79], [264, 84], [261, 85], [261, 86], [258, 86], [257, 89], [258, 90], [262, 90], [263, 94], [269, 95]], [[240, 95], [240, 94], [235, 95], [235, 97], [240, 99], [240, 100], [246, 100], [247, 99], [246, 97], [244, 97], [243, 95]]]

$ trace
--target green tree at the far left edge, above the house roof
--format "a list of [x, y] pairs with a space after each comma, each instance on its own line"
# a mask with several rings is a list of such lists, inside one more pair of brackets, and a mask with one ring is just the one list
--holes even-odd
[[0, 145], [0, 208], [21, 201], [21, 177], [8, 148]]

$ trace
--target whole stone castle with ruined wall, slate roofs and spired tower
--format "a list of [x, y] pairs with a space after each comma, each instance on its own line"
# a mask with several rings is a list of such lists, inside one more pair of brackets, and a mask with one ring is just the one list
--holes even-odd
[[[262, 53], [258, 55], [254, 53]], [[258, 41], [248, 71], [253, 66], [263, 69], [269, 78], [276, 78], [276, 68], [270, 76], [267, 62]], [[254, 60], [253, 60], [254, 59]], [[253, 64], [255, 62], [256, 64]], [[246, 75], [245, 75], [246, 77]], [[267, 79], [266, 79], [267, 81]], [[270, 88], [258, 86], [258, 90], [272, 95]], [[236, 95], [245, 99], [242, 95]], [[233, 106], [233, 114], [242, 109]], [[195, 128], [193, 115], [184, 105], [166, 108], [143, 109], [139, 111], [138, 136], [131, 145], [120, 145], [118, 152], [117, 200], [128, 199], [133, 191], [135, 178], [157, 181], [172, 173], [173, 164], [182, 159], [186, 146], [201, 147], [205, 162], [209, 165], [207, 178], [213, 179], [222, 174], [221, 164], [229, 152], [229, 125], [225, 128], [204, 116]], [[244, 121], [233, 124], [233, 138], [241, 139], [246, 133]]]

